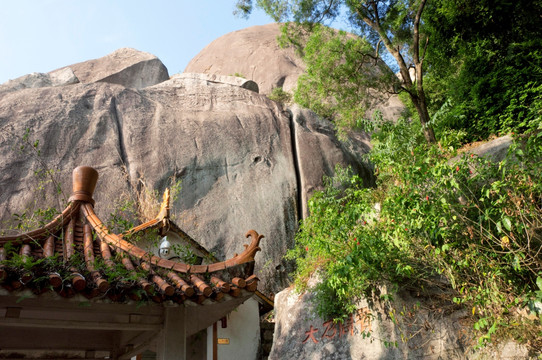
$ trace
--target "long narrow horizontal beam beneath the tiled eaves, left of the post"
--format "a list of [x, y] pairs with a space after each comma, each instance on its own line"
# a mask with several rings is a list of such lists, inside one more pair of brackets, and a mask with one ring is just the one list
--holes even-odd
[[50, 319], [0, 318], [0, 326], [83, 329], [83, 330], [126, 330], [126, 331], [159, 331], [161, 324], [115, 323], [104, 321], [72, 321]]

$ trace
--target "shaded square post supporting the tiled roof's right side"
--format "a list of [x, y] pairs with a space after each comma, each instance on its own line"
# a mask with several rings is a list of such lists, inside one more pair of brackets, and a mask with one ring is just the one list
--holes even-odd
[[164, 329], [158, 338], [156, 360], [186, 360], [185, 307], [167, 307], [164, 310]]

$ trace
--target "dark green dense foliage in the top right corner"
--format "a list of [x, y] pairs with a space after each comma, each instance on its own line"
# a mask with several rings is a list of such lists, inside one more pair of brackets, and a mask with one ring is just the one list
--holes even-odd
[[[466, 140], [521, 132], [540, 116], [540, 1], [431, 2], [426, 88], [441, 129]], [[435, 114], [437, 115], [437, 114]]]

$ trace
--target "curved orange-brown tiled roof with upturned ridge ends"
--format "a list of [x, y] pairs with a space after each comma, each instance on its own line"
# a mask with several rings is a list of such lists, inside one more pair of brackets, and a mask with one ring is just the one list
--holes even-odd
[[[174, 231], [191, 240], [169, 219], [169, 192], [164, 194], [156, 218], [114, 234], [94, 212], [92, 195], [97, 180], [93, 168], [76, 168], [73, 194], [60, 215], [36, 230], [0, 237], [0, 283], [4, 288], [10, 292], [31, 289], [36, 294], [54, 290], [63, 297], [80, 293], [115, 302], [152, 299], [197, 304], [256, 291], [254, 256], [262, 235], [248, 231], [251, 243], [221, 262], [188, 264], [162, 258], [131, 239], [154, 229], [162, 235]], [[192, 245], [200, 246], [193, 241]]]

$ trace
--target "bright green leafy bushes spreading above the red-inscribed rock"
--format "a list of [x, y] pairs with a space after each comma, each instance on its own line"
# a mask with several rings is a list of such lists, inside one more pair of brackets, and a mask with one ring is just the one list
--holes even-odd
[[341, 318], [379, 286], [423, 289], [441, 277], [447, 300], [472, 312], [481, 344], [514, 326], [542, 276], [540, 125], [530, 124], [528, 141], [518, 138], [500, 163], [452, 163], [406, 121], [382, 124], [370, 156], [378, 187], [339, 171], [310, 200], [288, 255], [297, 285], [317, 275], [318, 312]]

